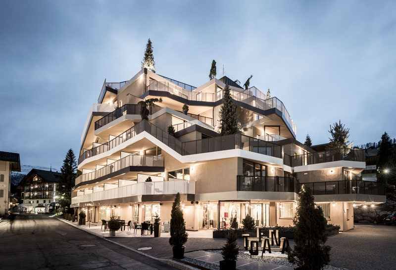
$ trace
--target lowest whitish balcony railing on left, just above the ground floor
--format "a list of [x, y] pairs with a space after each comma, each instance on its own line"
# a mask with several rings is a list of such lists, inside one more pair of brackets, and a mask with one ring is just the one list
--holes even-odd
[[71, 199], [72, 205], [141, 195], [195, 194], [195, 181], [141, 182], [117, 188], [107, 189]]

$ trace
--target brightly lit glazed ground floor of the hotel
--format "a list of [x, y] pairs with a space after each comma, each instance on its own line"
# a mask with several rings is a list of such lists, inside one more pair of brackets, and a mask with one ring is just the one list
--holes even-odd
[[[86, 212], [86, 221], [99, 223], [111, 216], [120, 220], [142, 223], [152, 222], [158, 215], [161, 223], [171, 219], [173, 201], [139, 202], [120, 204], [86, 204], [76, 208]], [[353, 228], [353, 202], [318, 202], [329, 224], [339, 225], [341, 230]], [[375, 207], [371, 204], [369, 207]], [[186, 229], [241, 228], [242, 220], [250, 215], [256, 226], [293, 226], [296, 201], [227, 200], [182, 201]]]

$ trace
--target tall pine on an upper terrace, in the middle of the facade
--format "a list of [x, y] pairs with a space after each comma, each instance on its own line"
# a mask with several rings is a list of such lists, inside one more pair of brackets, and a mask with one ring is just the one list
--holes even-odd
[[234, 104], [230, 87], [226, 85], [223, 90], [223, 105], [220, 109], [220, 135], [231, 135], [240, 133], [237, 107]]

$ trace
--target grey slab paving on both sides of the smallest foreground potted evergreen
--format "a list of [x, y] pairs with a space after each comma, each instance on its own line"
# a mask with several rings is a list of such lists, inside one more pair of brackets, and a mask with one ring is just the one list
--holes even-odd
[[[213, 263], [215, 265], [219, 265], [219, 261], [223, 260], [223, 257], [221, 254], [218, 253], [211, 253], [203, 250], [199, 251], [193, 251], [189, 253], [184, 254], [185, 257], [207, 262], [207, 263]], [[242, 270], [293, 270], [293, 268], [286, 267], [286, 266], [279, 266], [279, 265], [274, 265], [274, 264], [268, 264], [264, 262], [258, 262], [254, 260], [247, 260], [240, 258], [237, 260], [237, 269], [242, 269]]]

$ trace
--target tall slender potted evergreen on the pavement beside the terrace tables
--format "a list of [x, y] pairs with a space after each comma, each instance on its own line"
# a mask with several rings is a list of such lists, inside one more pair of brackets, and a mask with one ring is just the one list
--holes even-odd
[[183, 211], [180, 205], [180, 193], [177, 192], [175, 201], [172, 205], [170, 219], [170, 238], [169, 244], [172, 246], [173, 257], [176, 259], [184, 258], [184, 244], [187, 242], [188, 233], [184, 224]]

